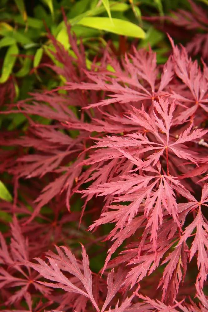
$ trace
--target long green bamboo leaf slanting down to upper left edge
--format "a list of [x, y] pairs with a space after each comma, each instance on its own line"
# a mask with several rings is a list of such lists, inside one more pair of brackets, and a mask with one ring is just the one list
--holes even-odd
[[9, 78], [14, 63], [16, 61], [16, 54], [19, 53], [19, 49], [16, 44], [10, 46], [7, 50], [6, 56], [4, 58], [3, 67], [2, 67], [2, 75], [0, 77], [0, 83], [4, 83]]

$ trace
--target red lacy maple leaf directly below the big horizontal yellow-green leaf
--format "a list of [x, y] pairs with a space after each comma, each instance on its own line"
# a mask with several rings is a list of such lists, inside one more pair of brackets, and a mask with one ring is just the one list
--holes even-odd
[[[125, 71], [120, 70], [114, 73], [115, 78], [111, 77], [111, 72], [98, 71], [86, 72], [90, 82], [73, 83], [68, 82], [65, 90], [103, 90], [108, 91], [107, 94], [110, 98], [101, 100], [98, 103], [90, 104], [86, 106], [86, 109], [92, 107], [102, 107], [112, 103], [126, 104], [129, 102], [137, 102], [142, 100], [151, 100], [160, 96], [171, 81], [173, 77], [173, 68], [171, 60], [167, 61], [163, 68], [161, 81], [158, 83], [157, 66], [156, 66], [156, 54], [145, 49], [136, 51], [134, 49], [134, 55], [130, 55], [132, 62], [125, 56], [122, 61], [122, 65]], [[109, 59], [111, 62], [111, 60]], [[139, 80], [145, 81], [145, 86], [142, 85]], [[128, 86], [127, 86], [128, 85]]]

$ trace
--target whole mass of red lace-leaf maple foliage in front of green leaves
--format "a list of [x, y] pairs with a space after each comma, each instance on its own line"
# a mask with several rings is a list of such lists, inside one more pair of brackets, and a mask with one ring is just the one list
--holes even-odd
[[[105, 51], [88, 70], [67, 27], [76, 58], [49, 34], [62, 67], [45, 64], [66, 84], [17, 103], [29, 129], [1, 138], [18, 147], [15, 161], [1, 158], [16, 192], [1, 204], [14, 215], [1, 235], [2, 309], [207, 311], [207, 65], [170, 38], [164, 66], [134, 48], [121, 62]], [[82, 236], [80, 260], [70, 242]], [[87, 253], [103, 240], [105, 264], [91, 272]]]

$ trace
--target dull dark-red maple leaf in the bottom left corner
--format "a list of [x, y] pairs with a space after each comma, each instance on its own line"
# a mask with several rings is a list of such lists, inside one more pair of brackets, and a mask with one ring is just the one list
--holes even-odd
[[[43, 285], [39, 285], [35, 279], [40, 278], [36, 271], [31, 270], [27, 265], [31, 255], [29, 255], [28, 241], [21, 233], [17, 218], [13, 218], [11, 224], [12, 239], [10, 252], [6, 245], [3, 235], [0, 233], [0, 263], [5, 266], [0, 268], [0, 285], [2, 289], [14, 288], [15, 292], [10, 294], [6, 304], [18, 302], [28, 296], [30, 285], [34, 285], [36, 291], [42, 295], [49, 295], [50, 290]], [[19, 273], [19, 274], [17, 274]], [[15, 288], [17, 287], [17, 288]], [[19, 289], [21, 287], [21, 289]]]

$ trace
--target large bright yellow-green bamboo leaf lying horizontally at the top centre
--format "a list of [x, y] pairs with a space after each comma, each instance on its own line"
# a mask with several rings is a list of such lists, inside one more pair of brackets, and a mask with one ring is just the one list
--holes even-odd
[[136, 24], [118, 18], [112, 18], [112, 21], [113, 24], [109, 17], [84, 17], [78, 24], [122, 36], [145, 38], [145, 32]]

